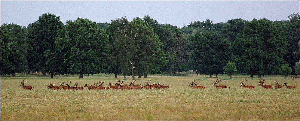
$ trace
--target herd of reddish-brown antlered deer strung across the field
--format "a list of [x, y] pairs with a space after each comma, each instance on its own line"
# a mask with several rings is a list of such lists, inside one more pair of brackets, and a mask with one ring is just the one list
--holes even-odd
[[[123, 80], [122, 80], [122, 82], [121, 82], [121, 80], [117, 80], [117, 81], [115, 81], [114, 86], [111, 85], [112, 83], [108, 83], [107, 86], [109, 86], [109, 87], [102, 86], [104, 81], [102, 81], [102, 82], [99, 81], [99, 83], [94, 83], [94, 85], [90, 85], [90, 86], [85, 84], [84, 87], [87, 87], [87, 89], [102, 89], [102, 90], [107, 90], [110, 88], [111, 89], [169, 89], [169, 86], [164, 86], [164, 84], [161, 84], [161, 83], [158, 83], [158, 84], [154, 83], [154, 84], [150, 85], [149, 83], [151, 82], [151, 79], [146, 82], [145, 86], [142, 86], [142, 84], [133, 85], [133, 83], [135, 81], [136, 80], [131, 80], [129, 82], [130, 84], [127, 85], [127, 84], [123, 84], [123, 82], [124, 82]], [[217, 83], [220, 81], [221, 81], [220, 79], [216, 79], [216, 81], [213, 82], [214, 83], [213, 86], [215, 86], [217, 89], [226, 89], [227, 86], [225, 86], [225, 85], [217, 85]], [[247, 81], [246, 79], [245, 80], [243, 79], [243, 82], [240, 83], [241, 84], [240, 87], [254, 89], [255, 86], [252, 86], [252, 85], [245, 86], [246, 81]], [[27, 90], [33, 89], [32, 86], [25, 86], [24, 83], [26, 83], [26, 82], [27, 82], [27, 80], [23, 80], [23, 82], [21, 82], [22, 85], [20, 85], [20, 86], [23, 86], [23, 88], [27, 89]], [[259, 81], [259, 86], [261, 86], [264, 89], [272, 89], [273, 85], [265, 85], [265, 84], [263, 84], [264, 82], [265, 82], [265, 79], [261, 79]], [[282, 86], [278, 84], [279, 82], [277, 82], [277, 80], [274, 82], [276, 83], [275, 89], [282, 88]], [[54, 86], [56, 84], [56, 82], [47, 82], [46, 86], [47, 86], [47, 89], [76, 89], [76, 90], [84, 89], [83, 87], [77, 86], [78, 83], [75, 83], [74, 86], [70, 86], [71, 81], [68, 81], [66, 83], [66, 86], [63, 86], [64, 83], [65, 82], [60, 83], [60, 86]], [[188, 85], [188, 86], [190, 86], [193, 89], [206, 89], [205, 86], [197, 86], [198, 82], [195, 83], [195, 80], [192, 82], [189, 82], [189, 83], [190, 83], [190, 85]], [[286, 86], [287, 88], [296, 88], [296, 86], [287, 86], [287, 83], [284, 83], [283, 86]], [[230, 89], [230, 87], [228, 89]]]

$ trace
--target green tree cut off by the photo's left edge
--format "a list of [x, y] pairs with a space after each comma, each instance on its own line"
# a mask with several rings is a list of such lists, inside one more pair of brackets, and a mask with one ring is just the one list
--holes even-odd
[[27, 72], [27, 30], [16, 24], [1, 25], [1, 75]]

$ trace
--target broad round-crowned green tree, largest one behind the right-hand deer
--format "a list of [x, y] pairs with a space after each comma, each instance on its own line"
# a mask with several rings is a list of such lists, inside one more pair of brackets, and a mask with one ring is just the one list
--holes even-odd
[[234, 42], [231, 42], [233, 62], [251, 74], [276, 74], [283, 64], [288, 42], [280, 36], [275, 24], [267, 19], [246, 23]]

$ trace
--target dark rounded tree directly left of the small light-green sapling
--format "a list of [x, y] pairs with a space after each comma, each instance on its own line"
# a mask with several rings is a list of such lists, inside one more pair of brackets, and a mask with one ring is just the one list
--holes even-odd
[[188, 48], [193, 51], [189, 67], [197, 74], [222, 74], [222, 68], [230, 59], [228, 43], [213, 31], [197, 32], [190, 39]]

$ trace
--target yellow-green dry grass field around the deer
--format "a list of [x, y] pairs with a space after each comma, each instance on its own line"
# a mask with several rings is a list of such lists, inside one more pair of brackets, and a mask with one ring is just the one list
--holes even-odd
[[[216, 78], [208, 75], [183, 74], [184, 76], [148, 75], [148, 78], [136, 77], [135, 85], [162, 83], [169, 89], [138, 90], [88, 90], [85, 84], [93, 85], [104, 81], [115, 84], [124, 80], [128, 84], [131, 77], [118, 79], [114, 75], [79, 75], [54, 76], [50, 78], [39, 74], [16, 74], [15, 77], [1, 76], [1, 120], [300, 120], [299, 78], [265, 75], [265, 83], [272, 89], [258, 86], [261, 78], [250, 75], [218, 75], [221, 81], [217, 85], [226, 85], [227, 89], [213, 86]], [[256, 75], [257, 76], [257, 75]], [[27, 79], [25, 90], [21, 81]], [[193, 79], [198, 86], [206, 89], [192, 89], [189, 83]], [[245, 85], [254, 89], [240, 87], [240, 82], [247, 79]], [[59, 83], [72, 81], [84, 90], [46, 89], [47, 82]], [[275, 89], [277, 80], [281, 86], [296, 86], [295, 89]], [[64, 86], [66, 86], [64, 84]], [[230, 89], [228, 89], [230, 87]]]

